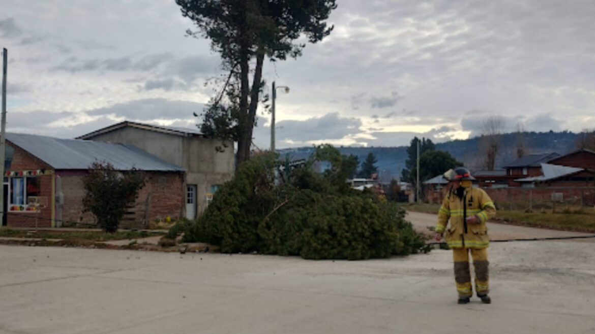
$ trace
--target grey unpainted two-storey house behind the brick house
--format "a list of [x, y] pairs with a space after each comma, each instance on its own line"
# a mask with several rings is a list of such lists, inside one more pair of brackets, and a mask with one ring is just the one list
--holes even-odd
[[233, 178], [234, 143], [203, 136], [198, 128], [167, 127], [124, 121], [78, 139], [132, 145], [186, 169], [184, 215], [194, 219], [212, 194]]

